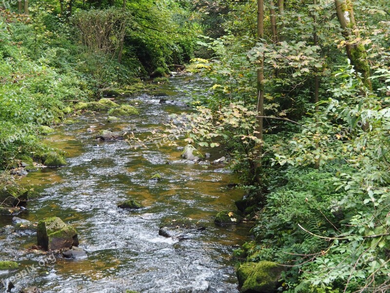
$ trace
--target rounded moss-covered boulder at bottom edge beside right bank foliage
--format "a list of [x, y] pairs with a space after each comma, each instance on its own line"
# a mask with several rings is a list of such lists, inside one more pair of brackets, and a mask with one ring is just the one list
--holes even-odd
[[241, 293], [273, 293], [276, 291], [283, 268], [270, 261], [242, 264], [237, 269]]

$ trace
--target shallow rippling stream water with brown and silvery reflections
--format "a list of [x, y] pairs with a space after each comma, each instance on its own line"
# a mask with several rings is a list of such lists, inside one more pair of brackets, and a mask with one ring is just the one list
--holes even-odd
[[[201, 88], [205, 81], [197, 76], [171, 78], [161, 90], [171, 99], [186, 101], [183, 90]], [[133, 131], [146, 135], [163, 128], [170, 113], [190, 108], [161, 105], [159, 98], [142, 94], [116, 102], [138, 99], [140, 115], [108, 124], [107, 113], [82, 116], [77, 123], [60, 127], [45, 142], [68, 154], [69, 166], [31, 172], [22, 183], [34, 186], [40, 197], [29, 202], [21, 218], [39, 221], [58, 216], [78, 230], [80, 247], [88, 257], [65, 259], [31, 251], [36, 235], [12, 232], [12, 216], [1, 216], [0, 259], [16, 260], [20, 269], [0, 272], [0, 278], [15, 276], [12, 292], [37, 286], [42, 292], [238, 292], [232, 251], [246, 240], [245, 225], [217, 227], [217, 211], [234, 209], [242, 192], [227, 185], [238, 182], [232, 174], [215, 172], [221, 166], [166, 164], [178, 160], [176, 146], [149, 143], [134, 149], [125, 142], [97, 142], [96, 133], [86, 129]], [[105, 125], [100, 125], [103, 123]], [[178, 141], [183, 146], [182, 141]], [[207, 151], [207, 150], [203, 150]], [[211, 159], [224, 155], [212, 150]], [[150, 177], [159, 173], [162, 180]], [[134, 198], [145, 208], [124, 210], [117, 203]], [[158, 235], [162, 219], [192, 218], [204, 222], [206, 230], [191, 233], [187, 240]], [[44, 265], [42, 261], [49, 259]], [[54, 259], [54, 258], [53, 258]]]

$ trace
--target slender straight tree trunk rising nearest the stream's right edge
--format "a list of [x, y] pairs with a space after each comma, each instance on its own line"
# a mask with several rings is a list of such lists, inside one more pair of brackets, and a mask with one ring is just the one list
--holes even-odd
[[[264, 39], [264, 0], [257, 0], [257, 38]], [[255, 161], [255, 178], [258, 183], [261, 183], [258, 168], [261, 167], [261, 154], [263, 145], [263, 117], [264, 116], [264, 52], [259, 57], [259, 68], [257, 69], [257, 133], [256, 138], [261, 140], [256, 143], [256, 161]]]

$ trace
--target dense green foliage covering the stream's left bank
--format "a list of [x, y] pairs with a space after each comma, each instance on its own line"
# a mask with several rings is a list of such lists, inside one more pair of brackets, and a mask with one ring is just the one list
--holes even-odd
[[[49, 129], [41, 126], [59, 125], [78, 110], [101, 110], [75, 101], [117, 88], [132, 94], [142, 88], [137, 78], [165, 76], [192, 58], [198, 26], [188, 3], [126, 4], [30, 0], [28, 15], [16, 13], [16, 1], [0, 11], [1, 168], [24, 155], [43, 163], [42, 154], [52, 150], [39, 142]], [[129, 109], [137, 112], [115, 111]]]

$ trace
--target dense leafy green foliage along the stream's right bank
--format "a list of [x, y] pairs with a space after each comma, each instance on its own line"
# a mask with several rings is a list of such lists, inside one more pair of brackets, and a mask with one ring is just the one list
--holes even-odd
[[386, 1], [341, 3], [346, 21], [356, 20], [345, 28], [334, 1], [286, 1], [279, 11], [265, 2], [266, 33], [256, 40], [256, 3], [221, 1], [226, 35], [205, 37], [213, 57], [191, 66], [214, 85], [182, 120], [186, 141], [226, 147], [260, 210], [255, 240], [235, 254], [282, 266], [279, 289], [288, 292], [390, 290], [390, 14]]

